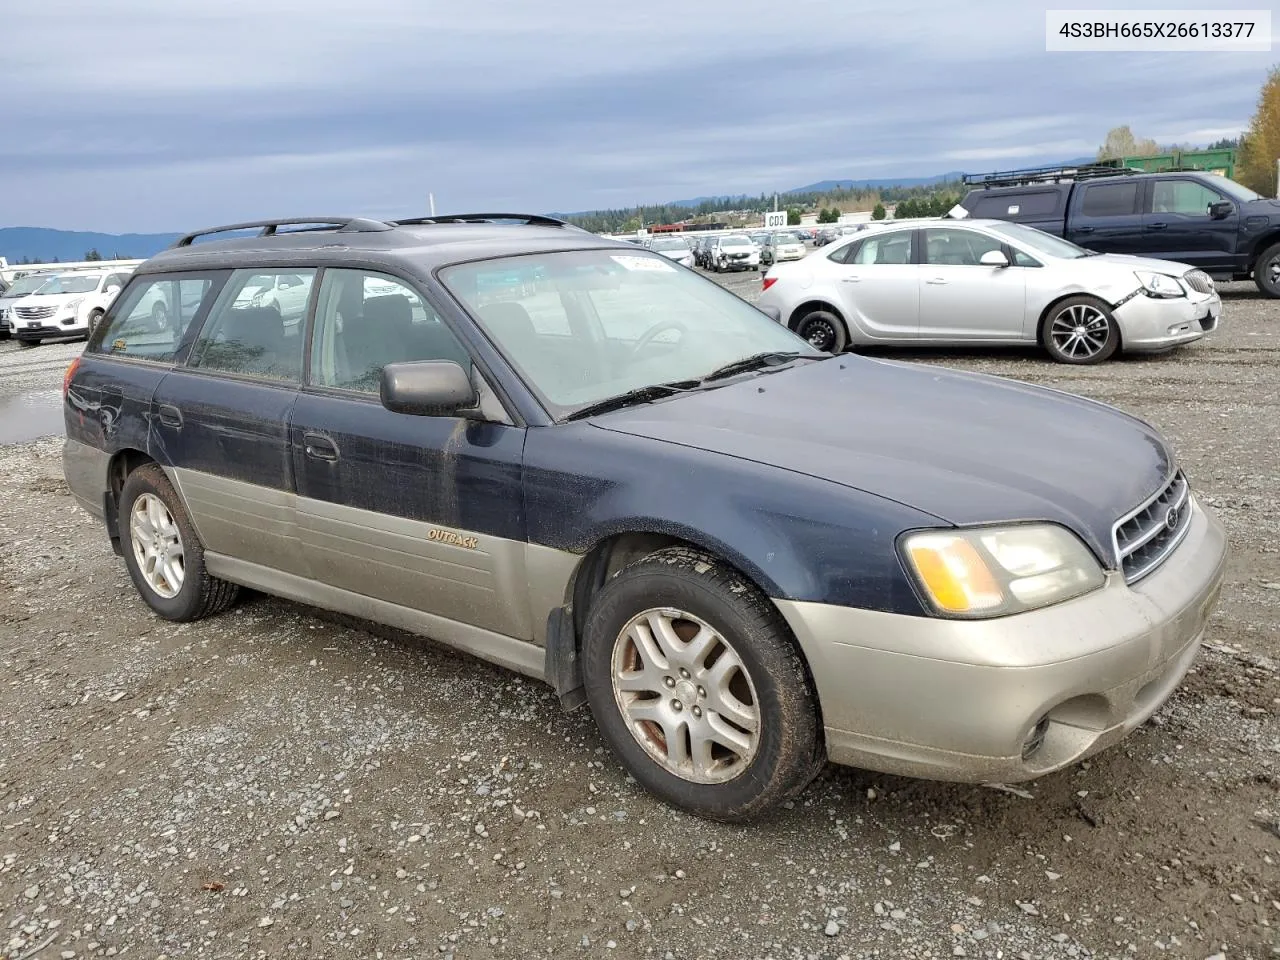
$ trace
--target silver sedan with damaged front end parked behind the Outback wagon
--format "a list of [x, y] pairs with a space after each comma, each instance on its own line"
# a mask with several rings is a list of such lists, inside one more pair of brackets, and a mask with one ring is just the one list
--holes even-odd
[[1152, 352], [1217, 326], [1208, 274], [1094, 253], [1002, 220], [884, 224], [763, 278], [756, 306], [819, 349], [1039, 344], [1064, 364]]

